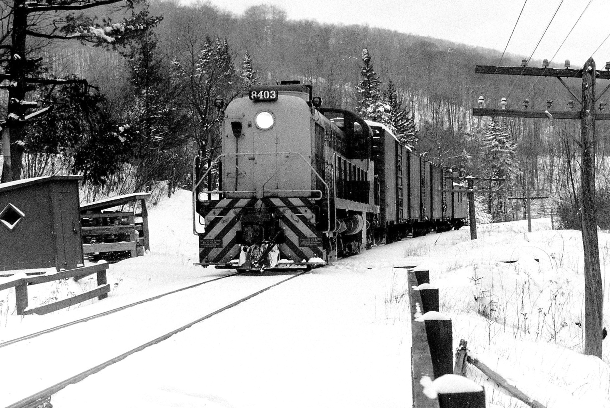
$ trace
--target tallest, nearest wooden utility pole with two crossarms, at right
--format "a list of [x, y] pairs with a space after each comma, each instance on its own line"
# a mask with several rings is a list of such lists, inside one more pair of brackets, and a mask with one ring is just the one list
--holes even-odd
[[[610, 79], [610, 63], [606, 64], [606, 71], [596, 71], [595, 62], [589, 58], [582, 70], [571, 70], [569, 61], [565, 63], [565, 69], [534, 68], [526, 66], [523, 60], [522, 66], [490, 66], [477, 65], [475, 73], [480, 74], [504, 74], [523, 76], [551, 76], [559, 79], [562, 85], [569, 91], [576, 101], [578, 98], [562, 80], [563, 78], [582, 78], [582, 104], [580, 112], [562, 112], [551, 110], [547, 104], [547, 110], [516, 110], [516, 109], [487, 109], [475, 108], [473, 116], [512, 116], [520, 118], [545, 118], [545, 119], [573, 119], [581, 121], [582, 129], [582, 163], [581, 163], [581, 223], [584, 249], [584, 302], [585, 302], [585, 346], [584, 354], [597, 356], [601, 359], [601, 331], [603, 328], [603, 286], [601, 284], [600, 256], [597, 240], [597, 217], [595, 215], [595, 153], [597, 142], [595, 140], [595, 121], [610, 120], [610, 115], [595, 113], [595, 79]], [[601, 93], [603, 95], [610, 85]], [[598, 96], [598, 98], [601, 97]], [[479, 98], [480, 99], [480, 98]], [[601, 104], [600, 104], [601, 106]]]

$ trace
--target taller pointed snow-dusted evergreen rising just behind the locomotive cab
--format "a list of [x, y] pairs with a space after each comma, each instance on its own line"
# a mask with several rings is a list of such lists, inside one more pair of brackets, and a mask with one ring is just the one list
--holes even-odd
[[379, 88], [381, 82], [373, 69], [371, 54], [367, 48], [362, 49], [362, 62], [364, 62], [360, 71], [362, 80], [356, 87], [359, 95], [356, 110], [364, 119], [389, 124], [390, 107], [381, 100], [381, 90]]

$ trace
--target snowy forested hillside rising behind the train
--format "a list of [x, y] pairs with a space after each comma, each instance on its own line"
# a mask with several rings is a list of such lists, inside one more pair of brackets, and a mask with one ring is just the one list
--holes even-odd
[[[256, 81], [300, 79], [314, 85], [323, 105], [356, 110], [366, 48], [381, 95], [387, 99], [391, 81], [393, 95], [414, 121], [417, 151], [465, 175], [506, 178], [506, 187], [515, 194], [543, 191], [561, 198], [573, 211], [578, 209], [575, 152], [580, 126], [561, 120], [481, 119], [470, 113], [479, 96], [486, 107], [500, 107], [500, 99], [507, 98], [512, 109], [521, 109], [528, 99], [528, 109], [545, 109], [551, 100], [554, 109], [567, 110], [567, 102], [574, 99], [554, 78], [475, 74], [475, 65], [500, 63], [500, 51], [405, 34], [409, 27], [396, 32], [345, 25], [339, 17], [336, 24], [299, 20], [264, 4], [234, 15], [206, 3], [183, 6], [157, 0], [149, 4], [148, 15], [162, 20], [115, 50], [58, 41], [37, 51], [57, 76], [76, 74], [99, 87], [104, 120], [116, 123], [110, 134], [118, 139], [107, 141], [120, 146], [111, 149], [112, 157], [118, 157], [113, 161], [107, 151], [101, 154], [95, 146], [66, 143], [60, 135], [51, 137], [45, 125], [35, 124], [25, 141], [25, 176], [51, 171], [53, 163], [53, 171], [88, 171], [94, 194], [102, 193], [95, 187], [99, 185], [106, 191], [131, 192], [126, 190], [142, 190], [172, 178], [187, 186], [192, 157], [217, 152], [215, 96], [230, 101]], [[503, 55], [501, 65], [520, 65], [521, 59]], [[572, 68], [583, 63], [573, 61]], [[568, 85], [580, 95], [580, 82]], [[67, 112], [52, 118], [66, 120]], [[599, 123], [600, 141], [607, 133]], [[610, 151], [610, 143], [600, 147]], [[90, 156], [112, 171], [105, 173], [91, 163], [75, 167], [74, 150], [79, 148], [90, 149]], [[53, 160], [48, 159], [49, 152], [55, 155]], [[512, 220], [520, 212], [519, 203], [506, 201], [504, 192], [482, 199], [495, 220]]]

